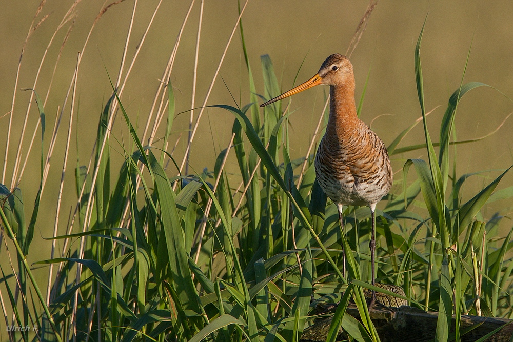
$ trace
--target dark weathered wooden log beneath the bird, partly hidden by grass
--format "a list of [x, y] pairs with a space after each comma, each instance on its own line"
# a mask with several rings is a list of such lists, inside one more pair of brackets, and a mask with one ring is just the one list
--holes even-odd
[[[357, 308], [353, 306], [347, 308], [347, 313], [357, 319], [360, 317]], [[425, 312], [409, 306], [401, 306], [399, 309], [378, 307], [371, 310], [370, 317], [374, 326], [376, 326], [382, 342], [424, 342], [435, 338], [438, 312]], [[332, 317], [324, 318], [306, 329], [300, 341], [326, 341], [331, 318]], [[497, 333], [486, 339], [486, 341], [509, 342], [513, 336], [513, 324], [509, 324], [511, 321], [511, 319], [505, 318], [462, 315], [460, 326], [461, 334], [469, 327], [477, 327], [463, 334], [461, 340], [462, 342], [473, 342], [495, 329], [503, 327]], [[451, 336], [454, 336], [455, 327], [456, 319], [453, 316], [449, 339]], [[341, 331], [337, 337], [337, 341], [342, 340], [347, 340], [347, 335], [343, 331]]]

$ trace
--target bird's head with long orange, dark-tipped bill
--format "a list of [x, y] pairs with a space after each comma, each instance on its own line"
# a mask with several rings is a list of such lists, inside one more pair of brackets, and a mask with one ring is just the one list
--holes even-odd
[[260, 107], [265, 107], [273, 102], [281, 100], [283, 98], [292, 96], [303, 90], [309, 89], [318, 85], [326, 85], [326, 86], [336, 86], [339, 84], [346, 83], [353, 76], [352, 64], [349, 62], [349, 59], [346, 56], [341, 54], [332, 54], [321, 65], [319, 72], [315, 74], [312, 78], [310, 78], [305, 83], [300, 84], [299, 86], [290, 89], [289, 91], [281, 94], [280, 96], [274, 97], [273, 99], [267, 101], [266, 103], [260, 105]]

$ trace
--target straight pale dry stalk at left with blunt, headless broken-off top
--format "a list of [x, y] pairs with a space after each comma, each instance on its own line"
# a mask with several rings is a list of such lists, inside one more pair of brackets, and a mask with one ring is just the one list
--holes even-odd
[[[63, 161], [63, 168], [61, 173], [61, 184], [59, 186], [59, 192], [57, 195], [57, 209], [55, 213], [55, 223], [53, 226], [53, 237], [57, 236], [57, 227], [59, 223], [59, 214], [61, 212], [61, 199], [62, 199], [62, 193], [64, 189], [64, 176], [66, 175], [66, 165], [68, 164], [68, 152], [69, 152], [69, 142], [71, 140], [71, 128], [73, 127], [73, 111], [75, 109], [75, 94], [76, 94], [76, 79], [78, 76], [78, 58], [80, 58], [80, 55], [77, 56], [77, 65], [75, 68], [75, 81], [73, 84], [73, 95], [71, 97], [71, 109], [69, 114], [69, 125], [68, 125], [68, 136], [66, 138], [66, 147], [64, 149], [64, 161]], [[55, 253], [55, 244], [56, 239], [52, 240], [52, 250], [50, 253], [50, 259], [53, 259], [54, 253]], [[47, 285], [47, 293], [46, 293], [46, 305], [50, 306], [50, 290], [52, 285], [52, 276], [53, 276], [53, 264], [50, 264], [50, 269], [48, 270], [48, 285]]]

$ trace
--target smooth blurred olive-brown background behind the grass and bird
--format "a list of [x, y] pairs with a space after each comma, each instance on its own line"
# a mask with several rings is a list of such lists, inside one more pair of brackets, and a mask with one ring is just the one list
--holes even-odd
[[[0, 155], [4, 160], [6, 132], [10, 111], [14, 81], [20, 53], [39, 1], [23, 2], [3, 0], [0, 11]], [[48, 0], [36, 23], [45, 15], [48, 18], [30, 37], [22, 59], [13, 111], [13, 126], [9, 158], [6, 170], [6, 184], [11, 182], [16, 149], [22, 149], [23, 157], [28, 149], [28, 139], [38, 119], [37, 107], [32, 106], [26, 138], [19, 146], [19, 132], [23, 124], [29, 92], [21, 88], [33, 86], [34, 77], [48, 41], [58, 23], [71, 6], [71, 1]], [[88, 0], [78, 4], [76, 21], [69, 40], [63, 50], [55, 79], [45, 107], [47, 134], [45, 154], [53, 129], [57, 109], [62, 106], [66, 91], [71, 82], [78, 51], [82, 49], [85, 38], [102, 8], [102, 0]], [[140, 41], [146, 25], [157, 4], [154, 0], [140, 1], [137, 5], [132, 38], [127, 53], [130, 61]], [[190, 2], [185, 0], [164, 0], [151, 27], [139, 59], [128, 80], [122, 96], [132, 122], [139, 124], [138, 133], [142, 134], [155, 90], [159, 84], [165, 64], [174, 45], [177, 33], [182, 25]], [[293, 79], [305, 59], [298, 76], [303, 82], [313, 76], [324, 59], [332, 53], [345, 53], [354, 31], [365, 12], [366, 1], [293, 1], [293, 0], [249, 0], [242, 16], [246, 45], [253, 69], [257, 90], [263, 94], [263, 81], [260, 70], [260, 56], [269, 54], [275, 71], [281, 75], [279, 81], [283, 90], [293, 85]], [[198, 30], [200, 1], [196, 0], [189, 21], [185, 27], [182, 42], [177, 52], [171, 82], [175, 89], [176, 112], [189, 110], [196, 32]], [[64, 233], [68, 213], [74, 210], [76, 194], [74, 190], [74, 172], [76, 152], [78, 164], [87, 165], [96, 136], [98, 117], [103, 105], [111, 95], [111, 86], [107, 72], [115, 79], [119, 70], [122, 51], [125, 44], [133, 0], [127, 0], [111, 7], [92, 31], [90, 42], [85, 50], [78, 74], [77, 85], [77, 122], [73, 124], [72, 143], [68, 170], [66, 173], [65, 193], [61, 210], [60, 232]], [[433, 141], [438, 141], [441, 118], [447, 106], [447, 100], [458, 89], [465, 60], [471, 46], [465, 82], [479, 81], [513, 97], [513, 2], [511, 1], [381, 1], [372, 12], [366, 31], [351, 56], [357, 82], [357, 101], [362, 93], [367, 74], [370, 78], [363, 106], [362, 119], [378, 133], [385, 145], [390, 144], [403, 129], [408, 127], [420, 115], [413, 52], [422, 24], [429, 13], [422, 41], [421, 59], [424, 73], [426, 108], [431, 110], [428, 116]], [[198, 86], [196, 107], [201, 106], [210, 85], [215, 68], [225, 48], [228, 37], [238, 17], [238, 4], [231, 0], [207, 0], [204, 7], [202, 35], [200, 42]], [[55, 58], [70, 23], [57, 33], [43, 65], [36, 91], [44, 97], [53, 72]], [[305, 58], [306, 56], [306, 58]], [[222, 79], [221, 79], [222, 77]], [[223, 83], [226, 83], [226, 85]], [[317, 124], [323, 106], [326, 87], [316, 87], [310, 91], [292, 97], [291, 136], [292, 158], [306, 154], [314, 127]], [[208, 100], [209, 105], [234, 105], [233, 95], [239, 105], [249, 102], [247, 69], [244, 62], [239, 31], [235, 33], [228, 49], [219, 77]], [[51, 160], [48, 182], [43, 194], [40, 217], [36, 225], [34, 244], [40, 249], [31, 249], [31, 259], [41, 260], [49, 257], [50, 243], [43, 237], [51, 235], [57, 202], [58, 184], [61, 179], [66, 130], [69, 121], [69, 105], [65, 109], [61, 131]], [[483, 136], [500, 125], [507, 114], [513, 111], [513, 103], [497, 91], [481, 87], [472, 90], [458, 107], [456, 118], [457, 138], [460, 140]], [[197, 115], [196, 111], [196, 115]], [[191, 152], [191, 167], [201, 172], [205, 167], [213, 169], [214, 160], [224, 149], [231, 136], [233, 116], [222, 110], [207, 109], [194, 139]], [[375, 120], [374, 120], [375, 119]], [[76, 120], [76, 116], [75, 116]], [[189, 113], [176, 117], [173, 135], [170, 137], [170, 149], [182, 134], [174, 157], [182, 160], [187, 142]], [[162, 125], [165, 126], [165, 125]], [[120, 144], [130, 143], [125, 124], [118, 116], [113, 126], [112, 172], [115, 175], [123, 156]], [[164, 128], [164, 127], [162, 127]], [[457, 149], [459, 165], [457, 175], [481, 170], [503, 170], [513, 164], [513, 121], [508, 120], [494, 135], [479, 143], [459, 146]], [[157, 136], [159, 139], [163, 135]], [[40, 134], [40, 133], [38, 133]], [[75, 147], [77, 137], [77, 148]], [[116, 142], [117, 139], [117, 142]], [[39, 138], [36, 138], [38, 144]], [[128, 143], [127, 143], [128, 142]], [[402, 145], [424, 142], [422, 125], [418, 125]], [[130, 146], [130, 145], [128, 145]], [[40, 174], [40, 146], [35, 145], [31, 152], [28, 169], [17, 186], [25, 196], [27, 211], [31, 210], [37, 192]], [[404, 156], [394, 156], [392, 166], [398, 172], [406, 158], [427, 158], [425, 150], [418, 150]], [[228, 170], [238, 172], [235, 159], [228, 159]], [[176, 174], [174, 168], [169, 175]], [[476, 193], [495, 178], [498, 171], [472, 177], [465, 183], [464, 200], [469, 194]], [[413, 177], [413, 172], [410, 172]], [[234, 176], [236, 177], [236, 176]], [[400, 173], [396, 176], [401, 178]], [[237, 178], [239, 179], [239, 178]], [[233, 182], [232, 185], [235, 185]], [[507, 174], [499, 189], [513, 184], [513, 174]], [[396, 187], [400, 187], [400, 183]], [[392, 190], [393, 191], [393, 190]], [[465, 197], [465, 194], [468, 196]], [[510, 203], [495, 202], [483, 209], [485, 218], [495, 212], [510, 208]], [[30, 211], [26, 213], [30, 215]], [[510, 212], [501, 211], [501, 215]], [[506, 227], [507, 229], [510, 228]], [[37, 245], [35, 245], [37, 246]]]

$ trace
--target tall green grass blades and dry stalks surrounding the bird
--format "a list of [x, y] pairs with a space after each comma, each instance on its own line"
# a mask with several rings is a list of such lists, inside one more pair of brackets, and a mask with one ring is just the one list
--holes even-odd
[[[137, 2], [132, 13], [136, 5]], [[155, 94], [143, 134], [134, 128], [133, 118], [120, 97], [144, 36], [126, 71], [123, 58], [121, 71], [111, 83], [113, 95], [100, 113], [93, 156], [88, 163], [80, 160], [75, 168], [76, 209], [69, 224], [57, 213], [54, 237], [48, 240], [48, 244], [63, 240], [64, 248], [55, 252], [52, 249], [50, 259], [29, 265], [26, 255], [50, 163], [43, 145], [44, 102], [34, 92], [42, 128], [41, 156], [34, 157], [41, 165], [40, 191], [30, 220], [26, 220], [24, 189], [0, 185], [5, 246], [2, 257], [9, 260], [9, 269], [1, 266], [0, 304], [7, 327], [40, 329], [37, 333], [9, 333], [9, 339], [297, 341], [304, 329], [314, 323], [315, 305], [340, 301], [329, 340], [335, 340], [340, 326], [354, 339], [379, 340], [363, 293], [363, 288], [372, 288], [367, 284], [370, 212], [367, 208], [346, 208], [345, 231], [341, 232], [336, 207], [315, 182], [313, 153], [309, 150], [302, 158], [290, 158], [290, 105], [276, 103], [259, 110], [259, 98], [279, 95], [280, 86], [267, 55], [261, 57], [260, 66], [265, 86], [255, 86], [240, 23], [244, 6], [226, 49], [240, 28], [249, 75], [246, 97], [250, 103], [241, 108], [210, 106], [212, 111], [233, 114], [227, 148], [216, 157], [213, 171], [182, 174], [216, 73], [194, 126], [191, 120], [182, 163], [168, 152], [177, 115], [169, 80], [192, 5], [193, 2], [165, 67], [165, 82]], [[159, 6], [160, 3], [155, 13]], [[369, 6], [370, 11], [373, 6]], [[102, 9], [97, 20], [108, 8]], [[367, 13], [364, 18], [368, 19]], [[362, 27], [365, 25], [359, 26], [360, 35], [356, 37], [361, 36]], [[409, 151], [426, 149], [428, 159], [406, 160], [402, 179], [396, 180], [393, 191], [382, 200], [382, 209], [377, 211], [377, 277], [381, 283], [401, 286], [410, 305], [439, 311], [436, 340], [445, 341], [452, 314], [458, 322], [467, 313], [513, 318], [509, 295], [513, 262], [507, 257], [513, 247], [511, 231], [505, 237], [496, 236], [500, 213], [488, 219], [481, 214], [484, 205], [511, 198], [513, 190], [506, 187], [494, 192], [507, 169], [469, 200], [462, 198], [465, 181], [475, 174], [457, 174], [456, 146], [463, 142], [453, 139], [455, 115], [462, 97], [485, 85], [462, 81], [455, 86], [442, 119], [439, 143], [433, 143], [424, 104], [420, 55], [423, 31], [424, 28], [412, 51], [422, 118], [394, 139], [388, 152], [398, 158]], [[129, 32], [127, 45], [130, 38]], [[197, 56], [196, 53], [196, 61]], [[79, 56], [69, 86], [72, 105], [66, 151], [72, 138], [80, 61]], [[66, 100], [67, 97], [63, 110]], [[130, 134], [130, 143], [116, 145], [116, 137], [110, 134], [116, 113], [120, 113]], [[327, 115], [326, 107], [319, 114], [321, 123]], [[144, 145], [149, 125], [153, 123], [150, 136], [154, 137], [164, 118], [162, 145], [153, 144], [152, 139]], [[399, 147], [404, 136], [421, 121], [425, 142]], [[310, 146], [319, 138], [318, 130]], [[57, 132], [56, 122], [52, 142]], [[122, 165], [111, 164], [114, 147], [124, 155]], [[224, 167], [229, 153], [238, 163], [237, 175], [229, 174]], [[62, 179], [66, 162], [65, 158]], [[411, 166], [415, 169], [412, 182], [408, 178]], [[14, 172], [13, 179], [17, 176]], [[63, 182], [60, 193], [62, 186]], [[57, 231], [64, 231], [63, 227], [66, 233], [57, 235]], [[342, 248], [347, 253], [346, 278], [340, 271]], [[33, 275], [34, 269], [42, 267], [49, 270], [46, 296], [45, 287]], [[345, 313], [351, 298], [361, 320]], [[460, 339], [459, 329], [456, 339]]]

